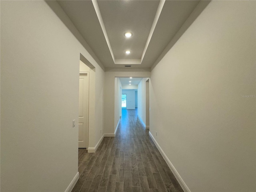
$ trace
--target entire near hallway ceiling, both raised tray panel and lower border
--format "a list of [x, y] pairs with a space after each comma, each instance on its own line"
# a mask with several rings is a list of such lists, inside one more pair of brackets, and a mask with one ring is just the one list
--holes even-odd
[[[199, 1], [166, 0], [156, 27], [153, 28], [152, 37], [149, 38], [148, 46], [146, 46], [146, 42], [160, 1], [98, 0], [97, 2], [98, 8], [96, 9], [98, 9], [102, 17], [103, 28], [100, 25], [92, 1], [58, 1], [106, 68], [124, 68], [124, 64], [132, 64], [132, 68], [150, 68]], [[104, 30], [107, 36], [104, 36]], [[124, 36], [126, 31], [132, 32], [131, 38]], [[143, 57], [145, 47], [146, 52]], [[131, 51], [130, 55], [125, 54], [127, 49]], [[122, 64], [114, 63], [111, 52], [114, 55], [114, 59], [120, 60], [121, 62], [119, 63]], [[140, 60], [141, 58], [143, 58], [142, 61]], [[141, 64], [133, 64], [132, 60], [136, 61], [134, 63], [141, 62]]]

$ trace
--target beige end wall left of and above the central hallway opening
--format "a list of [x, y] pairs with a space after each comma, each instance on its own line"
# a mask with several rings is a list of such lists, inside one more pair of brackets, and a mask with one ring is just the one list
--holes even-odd
[[105, 72], [105, 92], [104, 92], [104, 133], [114, 134], [115, 123], [119, 117], [115, 116], [115, 77], [149, 77], [150, 72], [141, 71], [106, 71]]

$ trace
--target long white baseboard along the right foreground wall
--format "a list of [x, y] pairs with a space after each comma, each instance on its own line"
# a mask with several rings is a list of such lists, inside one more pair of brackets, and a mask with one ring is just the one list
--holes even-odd
[[178, 171], [176, 170], [176, 168], [173, 166], [173, 164], [170, 162], [170, 160], [168, 159], [168, 157], [166, 156], [166, 154], [164, 153], [162, 148], [159, 146], [158, 142], [156, 142], [156, 140], [155, 140], [154, 136], [151, 134], [151, 132], [149, 132], [149, 135], [152, 138], [153, 142], [156, 144], [156, 147], [162, 154], [164, 160], [168, 164], [170, 170], [174, 174], [175, 178], [178, 180], [178, 182], [179, 182], [180, 186], [182, 187], [182, 189], [184, 190], [184, 192], [191, 192], [190, 189], [188, 188], [188, 186], [186, 185], [186, 183], [184, 182], [184, 180], [181, 178], [181, 176], [178, 173]]

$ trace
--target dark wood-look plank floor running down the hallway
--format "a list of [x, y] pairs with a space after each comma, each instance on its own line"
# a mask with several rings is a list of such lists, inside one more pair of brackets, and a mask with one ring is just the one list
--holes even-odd
[[183, 192], [136, 110], [122, 110], [116, 137], [105, 137], [95, 153], [78, 151], [72, 192]]

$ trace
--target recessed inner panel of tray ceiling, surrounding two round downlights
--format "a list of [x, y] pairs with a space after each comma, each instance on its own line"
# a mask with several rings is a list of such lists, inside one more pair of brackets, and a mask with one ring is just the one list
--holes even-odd
[[[154, 0], [98, 1], [114, 58], [140, 59], [142, 57], [158, 4], [159, 1]], [[133, 34], [130, 38], [124, 36], [128, 31]], [[125, 50], [132, 52], [127, 55]]]

